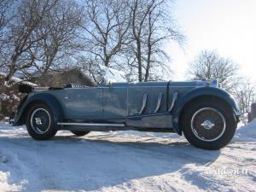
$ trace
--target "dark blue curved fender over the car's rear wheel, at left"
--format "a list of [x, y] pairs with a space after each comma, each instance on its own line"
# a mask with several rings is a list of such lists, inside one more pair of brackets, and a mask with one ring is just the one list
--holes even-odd
[[26, 124], [26, 114], [28, 109], [32, 106], [33, 103], [44, 102], [52, 110], [55, 116], [55, 126], [57, 122], [63, 119], [63, 111], [61, 108], [60, 102], [55, 98], [55, 96], [50, 95], [49, 93], [38, 93], [32, 96], [28, 96], [26, 102], [20, 103], [20, 109], [15, 118], [15, 125], [25, 125]]

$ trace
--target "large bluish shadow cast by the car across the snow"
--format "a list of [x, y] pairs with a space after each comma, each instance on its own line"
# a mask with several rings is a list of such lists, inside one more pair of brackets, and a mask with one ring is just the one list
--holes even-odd
[[[207, 166], [220, 151], [194, 148], [177, 139], [134, 139], [131, 137], [57, 136], [50, 141], [30, 137], [1, 137], [5, 147], [17, 154], [26, 174], [10, 170], [23, 184], [24, 191], [100, 190], [114, 186], [132, 188], [137, 179], [182, 172], [188, 164]], [[3, 143], [3, 142], [2, 142]], [[7, 162], [8, 164], [9, 162]], [[14, 166], [14, 165], [9, 165]], [[16, 165], [17, 166], [17, 165]], [[186, 177], [183, 178], [186, 180]], [[146, 181], [147, 182], [147, 181]], [[167, 181], [175, 185], [175, 181]], [[189, 181], [188, 181], [189, 182]]]

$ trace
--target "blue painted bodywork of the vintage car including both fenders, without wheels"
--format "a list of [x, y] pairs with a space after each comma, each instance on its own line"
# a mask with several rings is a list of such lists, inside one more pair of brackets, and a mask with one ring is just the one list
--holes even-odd
[[[172, 111], [167, 112], [175, 92], [178, 94], [177, 101]], [[154, 113], [160, 93], [163, 94], [160, 109]], [[148, 95], [148, 100], [143, 114], [139, 114], [144, 94]], [[179, 116], [185, 104], [197, 96], [218, 96], [230, 105], [234, 115], [238, 115], [236, 102], [230, 94], [218, 88], [208, 87], [204, 81], [113, 83], [100, 84], [98, 87], [34, 91], [22, 104], [15, 125], [25, 124], [29, 105], [41, 101], [52, 109], [55, 123], [118, 122], [125, 123], [131, 129], [174, 129], [181, 134], [182, 131], [178, 127]], [[119, 129], [122, 130], [122, 127]]]

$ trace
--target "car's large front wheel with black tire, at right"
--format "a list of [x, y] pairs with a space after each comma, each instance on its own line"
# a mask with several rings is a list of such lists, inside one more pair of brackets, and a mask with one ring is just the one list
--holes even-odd
[[234, 137], [236, 119], [230, 106], [217, 98], [203, 98], [186, 106], [181, 126], [186, 139], [197, 148], [224, 148]]

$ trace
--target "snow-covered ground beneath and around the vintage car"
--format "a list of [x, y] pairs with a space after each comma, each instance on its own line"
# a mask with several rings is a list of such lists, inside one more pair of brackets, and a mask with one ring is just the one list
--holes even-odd
[[255, 191], [256, 120], [217, 151], [137, 131], [34, 141], [0, 124], [0, 191]]

